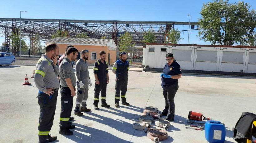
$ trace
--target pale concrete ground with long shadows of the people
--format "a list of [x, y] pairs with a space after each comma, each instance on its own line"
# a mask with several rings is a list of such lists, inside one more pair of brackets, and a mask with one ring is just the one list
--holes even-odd
[[[35, 66], [9, 65], [0, 66], [0, 142], [1, 143], [35, 143], [38, 142], [39, 105], [37, 104], [37, 88], [31, 78]], [[89, 87], [87, 108], [75, 118], [75, 129], [72, 136], [63, 136], [59, 131], [61, 111], [60, 93], [51, 135], [57, 136], [57, 141], [63, 143], [141, 143], [153, 142], [143, 130], [135, 130], [134, 122], [142, 115], [147, 106], [163, 110], [165, 100], [162, 95], [159, 73], [129, 71], [127, 102], [130, 106], [114, 105], [115, 75], [110, 71], [110, 83], [107, 85], [106, 101], [111, 108], [99, 106], [93, 109], [94, 84]], [[93, 70], [89, 69], [94, 81]], [[31, 85], [22, 85], [28, 75]], [[175, 121], [170, 122], [168, 139], [162, 143], [207, 143], [204, 131], [185, 129], [189, 111], [202, 113], [205, 117], [225, 123], [225, 143], [233, 140], [232, 128], [242, 112], [255, 114], [256, 78], [227, 77], [210, 75], [183, 74], [179, 79], [179, 90], [175, 96]], [[76, 97], [74, 97], [75, 106]], [[165, 116], [163, 116], [165, 117]], [[161, 117], [162, 118], [162, 117]], [[153, 128], [160, 128], [152, 123]]]

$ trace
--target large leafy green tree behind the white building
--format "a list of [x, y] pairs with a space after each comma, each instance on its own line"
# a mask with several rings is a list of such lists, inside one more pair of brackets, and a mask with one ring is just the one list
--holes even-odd
[[243, 37], [255, 34], [255, 10], [249, 10], [249, 3], [228, 3], [228, 0], [213, 0], [203, 3], [198, 18], [200, 40], [212, 44], [233, 45], [235, 42], [248, 42]]

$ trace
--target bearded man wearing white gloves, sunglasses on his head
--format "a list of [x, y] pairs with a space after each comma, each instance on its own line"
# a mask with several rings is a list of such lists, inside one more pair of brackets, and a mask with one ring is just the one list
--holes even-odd
[[[88, 85], [91, 86], [91, 79], [89, 76], [88, 63], [86, 60], [89, 58], [89, 50], [81, 51], [82, 58], [76, 62], [76, 78], [77, 78], [77, 91], [76, 91], [76, 107], [75, 115], [82, 116], [81, 112], [89, 112], [91, 109], [86, 108], [86, 101], [88, 98]], [[88, 84], [89, 81], [89, 84]]]

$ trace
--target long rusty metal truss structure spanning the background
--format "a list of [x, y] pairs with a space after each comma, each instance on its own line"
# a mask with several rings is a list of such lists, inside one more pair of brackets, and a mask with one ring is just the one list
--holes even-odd
[[[144, 46], [142, 40], [145, 32], [155, 33], [156, 42], [164, 43], [167, 32], [174, 25], [189, 25], [189, 22], [0, 18], [0, 36], [5, 37], [5, 43], [10, 45], [9, 35], [12, 32], [18, 34], [20, 28], [22, 37], [32, 41], [36, 36], [42, 41], [51, 39], [57, 30], [61, 30], [67, 31], [69, 37], [76, 37], [80, 33], [87, 33], [89, 38], [106, 36], [118, 45], [120, 35], [128, 32], [135, 46]], [[198, 23], [190, 22], [190, 25]], [[34, 44], [31, 46], [33, 48]]]

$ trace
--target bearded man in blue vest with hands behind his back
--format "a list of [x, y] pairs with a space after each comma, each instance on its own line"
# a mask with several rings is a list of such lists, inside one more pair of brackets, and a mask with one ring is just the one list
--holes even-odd
[[130, 105], [126, 102], [126, 91], [127, 91], [127, 83], [128, 83], [128, 70], [129, 70], [129, 62], [126, 60], [127, 55], [126, 52], [120, 53], [120, 60], [117, 60], [112, 68], [112, 72], [116, 74], [116, 95], [115, 95], [115, 107], [119, 107], [120, 101], [120, 91], [121, 91], [121, 100], [122, 105]]

